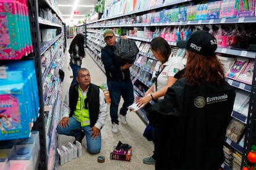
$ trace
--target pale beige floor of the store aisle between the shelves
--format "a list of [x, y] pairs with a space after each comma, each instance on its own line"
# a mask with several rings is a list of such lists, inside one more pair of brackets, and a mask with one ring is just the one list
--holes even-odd
[[[69, 44], [72, 39], [67, 39], [67, 51], [69, 49]], [[72, 78], [72, 70], [68, 70], [69, 65], [69, 54], [66, 51], [65, 59], [65, 78], [64, 78], [64, 89], [63, 94], [66, 94], [69, 89]], [[82, 61], [82, 67], [88, 68], [92, 78], [92, 83], [101, 85], [106, 82], [105, 74], [98, 68], [96, 63], [86, 54], [85, 59]], [[109, 104], [108, 104], [109, 107]], [[109, 110], [109, 109], [108, 109]], [[102, 134], [102, 146], [101, 152], [96, 155], [91, 155], [85, 151], [85, 139], [82, 141], [82, 154], [81, 158], [76, 158], [69, 163], [62, 166], [58, 166], [58, 169], [155, 169], [154, 165], [143, 164], [142, 159], [145, 156], [150, 156], [153, 151], [153, 143], [149, 142], [142, 133], [145, 129], [145, 124], [139, 118], [139, 116], [134, 112], [127, 113], [127, 125], [119, 124], [119, 132], [113, 134], [111, 132], [111, 121], [110, 115], [106, 119], [106, 124], [101, 130]], [[113, 146], [117, 145], [119, 140], [124, 144], [129, 144], [132, 146], [132, 158], [131, 161], [117, 161], [110, 160], [109, 153], [113, 150]], [[59, 147], [61, 145], [67, 145], [68, 142], [74, 142], [74, 137], [59, 135]], [[105, 163], [98, 163], [98, 156], [105, 156]]]

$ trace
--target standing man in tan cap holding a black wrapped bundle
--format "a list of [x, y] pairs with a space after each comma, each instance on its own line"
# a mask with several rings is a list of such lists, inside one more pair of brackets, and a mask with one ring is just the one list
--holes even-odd
[[127, 124], [126, 114], [129, 105], [134, 102], [134, 88], [130, 79], [130, 70], [132, 63], [119, 65], [115, 63], [115, 56], [113, 55], [113, 46], [116, 43], [116, 36], [112, 30], [106, 30], [103, 34], [106, 46], [101, 49], [101, 60], [105, 67], [106, 78], [108, 84], [109, 95], [111, 99], [110, 116], [113, 133], [118, 132], [118, 105], [122, 98], [124, 103], [120, 109], [120, 119], [123, 124]]

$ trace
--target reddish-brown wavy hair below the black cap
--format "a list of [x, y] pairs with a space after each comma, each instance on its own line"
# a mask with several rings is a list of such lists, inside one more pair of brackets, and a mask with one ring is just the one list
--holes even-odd
[[207, 83], [221, 85], [225, 81], [223, 65], [218, 57], [187, 52], [184, 77], [191, 86], [199, 86], [202, 79]]

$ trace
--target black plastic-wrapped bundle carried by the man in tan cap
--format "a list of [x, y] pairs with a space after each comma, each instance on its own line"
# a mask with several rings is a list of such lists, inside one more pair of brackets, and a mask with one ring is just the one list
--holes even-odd
[[134, 63], [136, 55], [139, 52], [135, 42], [131, 39], [120, 38], [113, 46], [114, 55], [116, 56], [115, 62], [124, 65], [126, 63]]

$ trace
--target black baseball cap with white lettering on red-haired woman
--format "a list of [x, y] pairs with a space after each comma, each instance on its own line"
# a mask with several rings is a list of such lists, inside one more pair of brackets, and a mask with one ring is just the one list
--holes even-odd
[[208, 31], [198, 30], [192, 33], [187, 41], [178, 41], [177, 47], [186, 48], [201, 55], [215, 56], [217, 40]]

